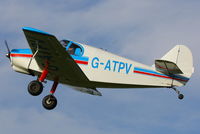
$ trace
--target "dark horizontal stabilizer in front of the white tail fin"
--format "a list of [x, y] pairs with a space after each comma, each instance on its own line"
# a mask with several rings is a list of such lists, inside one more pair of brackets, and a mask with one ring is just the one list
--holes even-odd
[[156, 70], [164, 74], [183, 74], [179, 67], [171, 61], [155, 60]]

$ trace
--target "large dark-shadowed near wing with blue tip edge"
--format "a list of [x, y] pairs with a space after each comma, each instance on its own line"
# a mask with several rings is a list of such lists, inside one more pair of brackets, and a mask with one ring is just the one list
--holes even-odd
[[23, 28], [38, 66], [43, 70], [48, 62], [49, 73], [73, 82], [89, 81], [55, 36], [33, 28]]

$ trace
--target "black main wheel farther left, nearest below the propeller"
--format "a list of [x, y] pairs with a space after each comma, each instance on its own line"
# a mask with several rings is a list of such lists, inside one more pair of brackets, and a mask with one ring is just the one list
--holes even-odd
[[34, 80], [28, 84], [28, 92], [33, 96], [38, 96], [43, 91], [43, 85], [41, 82]]

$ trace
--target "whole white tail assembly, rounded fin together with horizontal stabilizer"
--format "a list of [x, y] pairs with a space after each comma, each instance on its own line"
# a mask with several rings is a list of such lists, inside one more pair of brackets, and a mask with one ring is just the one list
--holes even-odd
[[185, 45], [176, 45], [162, 58], [155, 60], [155, 69], [172, 77], [172, 86], [185, 85], [194, 72], [192, 52]]

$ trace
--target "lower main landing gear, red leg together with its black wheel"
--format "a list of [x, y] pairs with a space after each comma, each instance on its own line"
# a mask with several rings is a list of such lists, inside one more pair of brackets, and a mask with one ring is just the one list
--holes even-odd
[[58, 86], [58, 81], [54, 81], [50, 94], [45, 96], [42, 100], [42, 105], [47, 110], [52, 110], [57, 105], [57, 99], [54, 96], [57, 86]]

